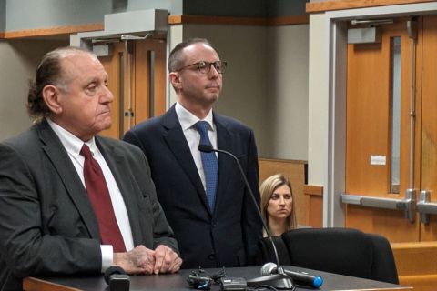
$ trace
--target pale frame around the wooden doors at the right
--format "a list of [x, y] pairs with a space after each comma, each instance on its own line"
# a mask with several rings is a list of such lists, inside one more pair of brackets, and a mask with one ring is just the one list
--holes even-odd
[[[344, 207], [340, 202], [340, 194], [345, 191], [345, 149], [346, 149], [346, 60], [347, 60], [347, 22], [356, 17], [401, 17], [413, 15], [437, 14], [436, 3], [421, 3], [412, 5], [389, 5], [369, 8], [328, 11], [321, 18], [314, 15], [317, 29], [321, 28], [323, 35], [326, 35], [322, 46], [324, 52], [322, 72], [316, 73], [310, 69], [310, 75], [320, 75], [322, 82], [319, 89], [314, 89], [314, 94], [320, 94], [322, 98], [322, 108], [319, 126], [324, 130], [321, 135], [323, 160], [317, 161], [313, 165], [321, 164], [323, 180], [323, 226], [334, 227], [344, 226], [345, 216]], [[313, 15], [310, 15], [310, 23]], [[311, 34], [311, 27], [310, 27]], [[310, 36], [311, 38], [311, 36]], [[310, 48], [311, 53], [311, 48]], [[317, 59], [317, 57], [316, 57]], [[314, 64], [313, 64], [314, 65]], [[311, 60], [310, 60], [311, 66]], [[319, 67], [320, 68], [320, 67]], [[315, 76], [310, 77], [311, 80]], [[319, 80], [320, 81], [320, 80]], [[324, 82], [323, 82], [324, 81]], [[311, 94], [310, 94], [311, 99]], [[316, 101], [313, 101], [316, 102]], [[311, 106], [311, 100], [310, 100]], [[328, 110], [326, 110], [328, 109]], [[310, 118], [311, 107], [310, 107]], [[317, 114], [317, 113], [315, 113]], [[315, 128], [313, 126], [313, 128]], [[311, 126], [309, 127], [311, 130]], [[317, 130], [320, 132], [320, 130]], [[310, 133], [309, 133], [310, 134]], [[311, 138], [311, 137], [310, 137]], [[317, 156], [316, 156], [317, 159]], [[311, 165], [309, 153], [309, 165]], [[311, 173], [310, 180], [311, 180]], [[316, 173], [317, 175], [317, 173]], [[310, 181], [311, 182], [311, 181]], [[316, 183], [317, 184], [317, 183]]]

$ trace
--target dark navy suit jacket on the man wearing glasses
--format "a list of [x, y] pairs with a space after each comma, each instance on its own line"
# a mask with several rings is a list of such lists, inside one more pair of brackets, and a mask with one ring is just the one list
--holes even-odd
[[[214, 123], [219, 149], [239, 158], [259, 204], [258, 156], [252, 130], [215, 113]], [[211, 214], [174, 106], [166, 114], [135, 126], [124, 138], [147, 156], [158, 200], [178, 240], [182, 267], [253, 263], [261, 220], [235, 160], [219, 156], [219, 186]]]

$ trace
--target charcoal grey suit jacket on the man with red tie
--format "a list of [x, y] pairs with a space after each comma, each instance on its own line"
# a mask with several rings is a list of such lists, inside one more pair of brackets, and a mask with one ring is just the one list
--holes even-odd
[[[127, 206], [135, 246], [178, 244], [137, 146], [96, 137]], [[64, 146], [46, 121], [0, 144], [0, 290], [25, 276], [99, 274], [97, 218]]]

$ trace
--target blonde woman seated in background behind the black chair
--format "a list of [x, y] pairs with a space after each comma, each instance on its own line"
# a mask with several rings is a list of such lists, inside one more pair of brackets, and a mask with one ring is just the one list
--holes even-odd
[[[297, 227], [290, 181], [282, 174], [269, 176], [260, 186], [262, 218], [271, 236]], [[264, 233], [264, 236], [267, 236]]]

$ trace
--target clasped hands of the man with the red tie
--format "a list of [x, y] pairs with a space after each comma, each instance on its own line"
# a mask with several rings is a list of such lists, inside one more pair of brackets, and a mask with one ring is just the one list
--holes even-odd
[[114, 264], [124, 268], [127, 274], [176, 273], [182, 259], [168, 246], [159, 245], [151, 250], [140, 245], [127, 253], [115, 253]]

